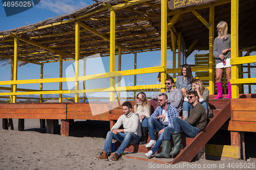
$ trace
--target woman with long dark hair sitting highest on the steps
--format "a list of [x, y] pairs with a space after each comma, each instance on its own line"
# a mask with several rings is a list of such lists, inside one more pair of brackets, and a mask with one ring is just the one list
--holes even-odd
[[192, 82], [194, 80], [190, 65], [184, 64], [180, 75], [176, 79], [176, 88], [181, 90], [185, 98], [186, 94], [192, 89]]

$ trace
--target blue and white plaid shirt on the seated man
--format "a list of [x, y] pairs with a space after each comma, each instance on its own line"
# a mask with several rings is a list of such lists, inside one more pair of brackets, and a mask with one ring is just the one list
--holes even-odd
[[[156, 108], [156, 110], [154, 111], [154, 113], [151, 115], [151, 117], [157, 119], [157, 116], [161, 115], [163, 111], [163, 108], [161, 106], [158, 106]], [[167, 109], [165, 110], [167, 116], [168, 116], [168, 120], [170, 123], [170, 127], [174, 127], [174, 123], [173, 123], [173, 118], [174, 117], [178, 117], [179, 113], [177, 111], [177, 109], [175, 107], [173, 107], [172, 105], [167, 105]], [[160, 123], [161, 123], [161, 118], [160, 118]]]

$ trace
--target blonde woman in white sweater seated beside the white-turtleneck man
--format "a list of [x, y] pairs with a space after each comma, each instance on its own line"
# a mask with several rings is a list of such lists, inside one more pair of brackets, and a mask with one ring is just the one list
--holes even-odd
[[150, 117], [150, 105], [148, 104], [146, 94], [139, 92], [135, 99], [134, 113], [139, 116], [142, 126], [142, 137], [140, 144], [145, 144], [147, 141], [147, 118]]

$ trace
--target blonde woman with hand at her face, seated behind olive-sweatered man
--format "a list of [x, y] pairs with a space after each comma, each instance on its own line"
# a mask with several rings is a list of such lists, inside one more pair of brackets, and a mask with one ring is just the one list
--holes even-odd
[[[209, 105], [209, 90], [206, 87], [204, 87], [203, 82], [199, 79], [194, 79], [194, 81], [192, 82], [192, 85], [193, 85], [193, 89], [191, 89], [191, 91], [197, 91], [198, 97], [199, 97], [198, 101], [204, 106], [205, 111], [207, 113], [208, 105]], [[193, 106], [190, 103], [188, 103], [188, 96], [187, 96], [187, 98], [184, 99], [184, 102], [182, 104], [182, 114], [184, 118], [188, 118], [189, 110], [192, 107]]]

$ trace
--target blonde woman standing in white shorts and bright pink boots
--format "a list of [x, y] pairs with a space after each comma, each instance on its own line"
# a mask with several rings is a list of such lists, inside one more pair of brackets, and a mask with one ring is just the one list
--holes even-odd
[[217, 85], [217, 97], [214, 99], [222, 98], [222, 72], [226, 68], [226, 77], [228, 84], [227, 99], [231, 98], [231, 65], [230, 65], [230, 51], [231, 51], [231, 36], [228, 34], [227, 23], [220, 21], [217, 25], [218, 37], [214, 40], [214, 57], [216, 58], [216, 85]]

